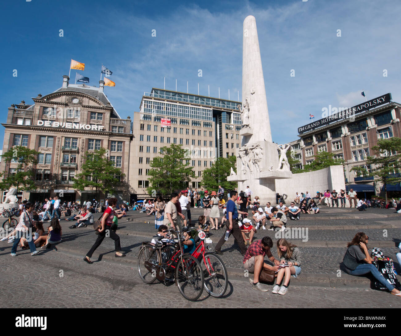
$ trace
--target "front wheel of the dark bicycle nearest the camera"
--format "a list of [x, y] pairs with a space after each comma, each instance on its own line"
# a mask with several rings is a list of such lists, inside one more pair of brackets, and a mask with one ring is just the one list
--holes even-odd
[[176, 285], [181, 295], [189, 301], [195, 301], [201, 296], [205, 278], [201, 265], [195, 257], [189, 254], [182, 256], [176, 267]]

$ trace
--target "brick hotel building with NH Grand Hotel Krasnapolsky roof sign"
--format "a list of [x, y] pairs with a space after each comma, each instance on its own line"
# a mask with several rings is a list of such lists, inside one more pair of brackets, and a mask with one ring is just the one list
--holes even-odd
[[[371, 148], [379, 139], [401, 136], [400, 107], [388, 93], [299, 127], [302, 164], [311, 163], [318, 151], [331, 152], [334, 158], [344, 160], [347, 189], [367, 196], [379, 195], [382, 185], [370, 175], [374, 167], [366, 164], [366, 158], [373, 155]], [[368, 176], [356, 176], [351, 170], [355, 166], [364, 167]], [[388, 185], [387, 190], [401, 191], [401, 188], [399, 184]]]

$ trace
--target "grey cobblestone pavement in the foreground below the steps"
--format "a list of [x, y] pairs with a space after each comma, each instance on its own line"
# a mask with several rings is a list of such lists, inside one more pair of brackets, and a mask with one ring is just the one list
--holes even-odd
[[[144, 284], [136, 268], [49, 251], [2, 259], [0, 308], [399, 308], [400, 298], [367, 288], [290, 286], [280, 296], [251, 289], [247, 278], [231, 279], [224, 298], [204, 292], [185, 300], [174, 284]], [[61, 277], [62, 275], [62, 277]]]

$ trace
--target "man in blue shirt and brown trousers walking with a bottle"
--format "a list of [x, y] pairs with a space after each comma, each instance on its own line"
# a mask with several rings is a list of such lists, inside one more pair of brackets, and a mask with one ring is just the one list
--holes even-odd
[[[241, 229], [239, 228], [238, 225], [238, 213], [245, 214], [245, 212], [238, 211], [237, 206], [235, 205], [235, 200], [237, 199], [237, 194], [238, 192], [235, 190], [230, 191], [230, 199], [227, 202], [227, 213], [226, 213], [226, 226], [227, 229], [230, 230], [230, 235], [233, 234], [235, 240], [237, 241], [237, 244], [239, 248], [241, 249], [241, 254], [245, 256], [245, 252], [247, 251], [247, 248], [244, 244], [244, 241], [242, 239], [242, 234], [241, 234]], [[219, 240], [219, 242], [216, 245], [215, 253], [217, 254], [223, 254], [221, 252], [221, 246], [225, 243], [225, 232], [223, 237]]]

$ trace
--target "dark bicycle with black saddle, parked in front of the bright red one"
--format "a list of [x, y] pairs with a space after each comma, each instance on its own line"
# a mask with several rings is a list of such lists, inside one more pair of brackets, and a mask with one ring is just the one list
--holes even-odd
[[[169, 230], [180, 234], [180, 231]], [[138, 255], [138, 274], [145, 284], [156, 279], [164, 284], [175, 281], [181, 295], [189, 301], [197, 300], [203, 292], [205, 278], [198, 260], [182, 251], [182, 239], [174, 238], [165, 245], [163, 236], [156, 235], [156, 244], [143, 242]]]

